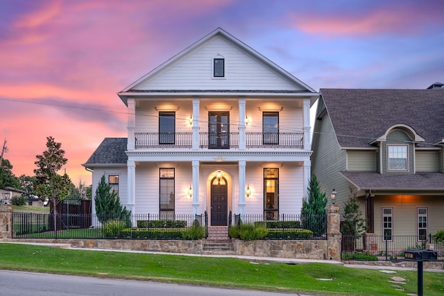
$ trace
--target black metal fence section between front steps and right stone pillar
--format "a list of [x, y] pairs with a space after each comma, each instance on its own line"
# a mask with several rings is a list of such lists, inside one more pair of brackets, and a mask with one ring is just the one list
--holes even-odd
[[268, 239], [327, 239], [327, 214], [292, 215], [280, 214], [269, 220], [266, 215], [241, 215], [230, 213], [229, 226], [263, 226], [268, 230]]

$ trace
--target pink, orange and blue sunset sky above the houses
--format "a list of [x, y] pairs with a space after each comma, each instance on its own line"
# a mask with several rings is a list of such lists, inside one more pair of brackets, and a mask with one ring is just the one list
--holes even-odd
[[[444, 82], [444, 1], [0, 0], [0, 145], [33, 175], [46, 137], [74, 184], [104, 137], [126, 137], [117, 92], [221, 27], [307, 85]], [[0, 146], [1, 149], [1, 146]]]

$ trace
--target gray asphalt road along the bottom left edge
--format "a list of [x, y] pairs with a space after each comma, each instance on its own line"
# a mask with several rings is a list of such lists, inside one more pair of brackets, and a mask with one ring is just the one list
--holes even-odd
[[[251, 290], [128, 281], [71, 275], [0, 270], [0, 295], [4, 296], [275, 296], [289, 295]], [[299, 295], [299, 294], [293, 294]], [[307, 296], [307, 295], [300, 295]]]

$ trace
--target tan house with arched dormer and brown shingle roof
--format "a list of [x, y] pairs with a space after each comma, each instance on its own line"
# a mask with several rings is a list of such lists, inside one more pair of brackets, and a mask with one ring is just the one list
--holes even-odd
[[434, 85], [320, 91], [312, 172], [341, 209], [357, 196], [370, 233], [420, 240], [444, 227], [444, 89]]

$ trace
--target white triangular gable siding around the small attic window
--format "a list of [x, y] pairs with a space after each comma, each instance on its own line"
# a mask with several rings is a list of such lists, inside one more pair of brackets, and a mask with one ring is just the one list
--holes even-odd
[[[225, 58], [225, 78], [214, 79], [212, 62], [218, 53]], [[134, 89], [302, 90], [222, 37], [214, 37]]]

